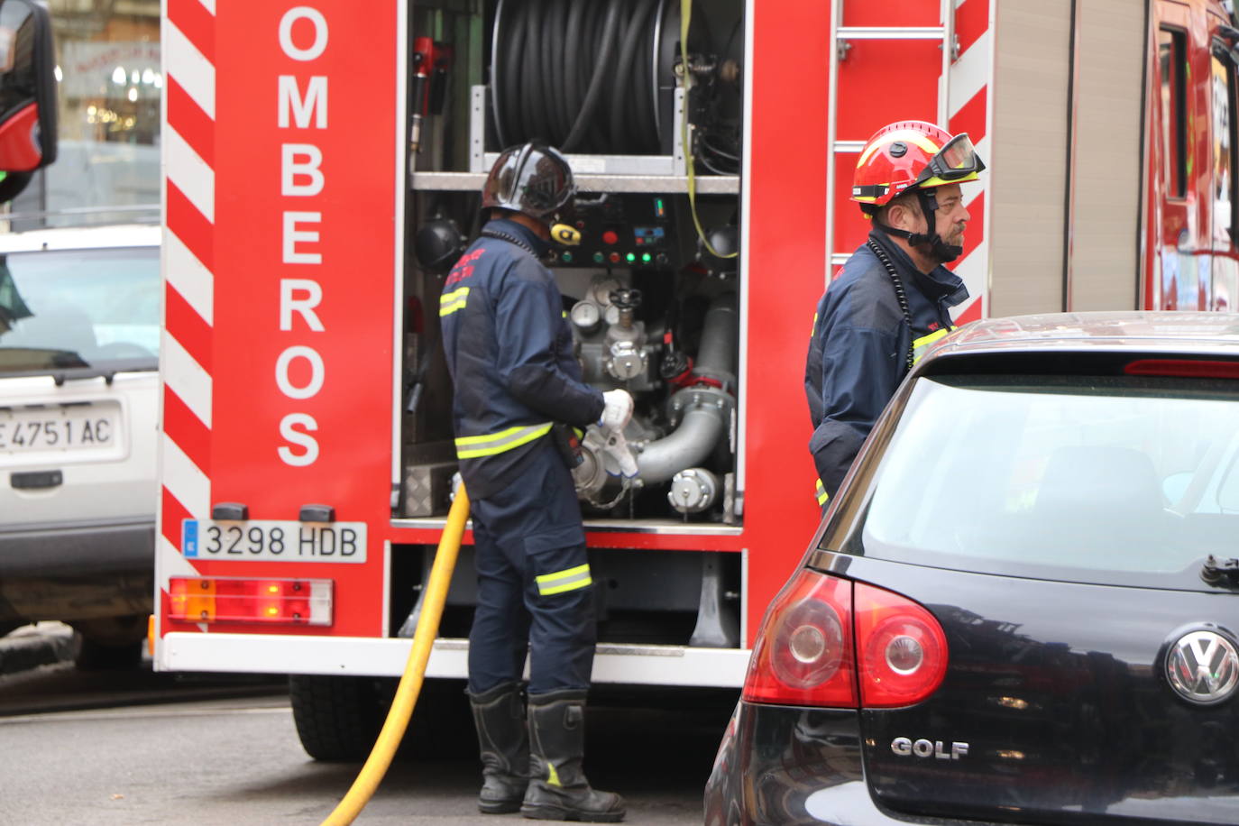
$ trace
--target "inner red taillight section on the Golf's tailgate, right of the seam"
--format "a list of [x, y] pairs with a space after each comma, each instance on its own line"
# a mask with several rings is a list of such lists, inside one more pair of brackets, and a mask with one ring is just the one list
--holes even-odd
[[862, 707], [911, 706], [937, 691], [947, 674], [947, 635], [933, 614], [861, 582], [855, 612]]

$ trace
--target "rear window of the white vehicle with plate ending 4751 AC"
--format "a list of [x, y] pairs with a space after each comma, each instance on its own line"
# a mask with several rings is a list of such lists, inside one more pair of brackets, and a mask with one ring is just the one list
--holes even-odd
[[0, 255], [0, 373], [155, 369], [154, 246]]

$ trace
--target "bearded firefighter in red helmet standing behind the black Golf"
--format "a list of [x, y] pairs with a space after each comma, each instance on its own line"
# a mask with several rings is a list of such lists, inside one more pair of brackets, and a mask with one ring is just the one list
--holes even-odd
[[804, 370], [823, 509], [900, 381], [953, 329], [968, 290], [943, 265], [964, 251], [959, 185], [984, 168], [966, 134], [919, 120], [883, 126], [861, 150], [851, 199], [873, 228], [818, 301]]

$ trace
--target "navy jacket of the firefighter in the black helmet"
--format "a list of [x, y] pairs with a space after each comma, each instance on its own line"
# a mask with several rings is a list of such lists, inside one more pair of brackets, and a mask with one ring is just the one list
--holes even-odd
[[513, 220], [483, 232], [444, 282], [439, 316], [456, 385], [452, 424], [461, 477], [482, 498], [510, 484], [554, 422], [577, 427], [602, 415], [602, 394], [581, 380], [572, 332], [550, 270], [549, 246]]

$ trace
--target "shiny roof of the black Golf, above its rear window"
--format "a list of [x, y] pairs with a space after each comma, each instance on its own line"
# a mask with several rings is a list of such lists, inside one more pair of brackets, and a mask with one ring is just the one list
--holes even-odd
[[987, 318], [960, 327], [922, 363], [1005, 350], [1131, 350], [1239, 355], [1239, 315], [1219, 312], [1064, 312]]

